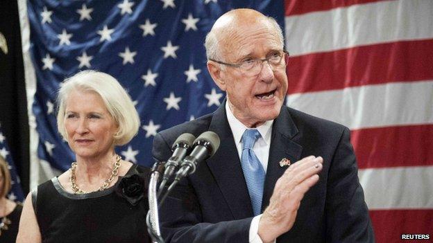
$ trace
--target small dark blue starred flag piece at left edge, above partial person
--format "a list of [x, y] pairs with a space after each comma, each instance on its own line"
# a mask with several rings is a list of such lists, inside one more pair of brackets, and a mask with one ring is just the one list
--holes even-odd
[[17, 168], [15, 168], [15, 163], [10, 154], [8, 147], [8, 141], [6, 136], [3, 135], [0, 124], [0, 156], [8, 163], [8, 169], [10, 172], [10, 192], [8, 193], [8, 199], [12, 201], [24, 201], [24, 194], [21, 188], [21, 181], [19, 181], [19, 176], [17, 174]]

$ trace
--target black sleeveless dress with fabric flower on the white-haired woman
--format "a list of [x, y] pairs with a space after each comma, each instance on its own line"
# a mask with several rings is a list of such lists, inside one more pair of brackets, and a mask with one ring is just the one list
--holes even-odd
[[42, 242], [151, 242], [148, 172], [133, 165], [111, 188], [82, 195], [65, 191], [57, 177], [42, 183], [32, 195]]

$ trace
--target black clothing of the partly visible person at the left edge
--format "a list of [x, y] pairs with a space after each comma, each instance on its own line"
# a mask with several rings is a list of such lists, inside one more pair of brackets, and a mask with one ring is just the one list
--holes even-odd
[[12, 213], [6, 217], [0, 217], [0, 242], [15, 242], [17, 240], [21, 212], [22, 205], [17, 204]]

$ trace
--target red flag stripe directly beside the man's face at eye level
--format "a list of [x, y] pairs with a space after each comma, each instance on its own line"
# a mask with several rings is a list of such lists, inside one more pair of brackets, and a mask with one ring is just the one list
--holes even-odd
[[289, 57], [288, 93], [433, 79], [433, 39]]

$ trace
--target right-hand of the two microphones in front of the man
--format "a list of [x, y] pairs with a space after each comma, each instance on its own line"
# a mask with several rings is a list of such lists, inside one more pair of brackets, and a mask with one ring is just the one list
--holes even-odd
[[176, 173], [175, 181], [194, 173], [199, 162], [208, 159], [217, 152], [219, 143], [219, 136], [214, 132], [207, 131], [198, 136], [194, 141], [194, 150], [183, 159], [181, 167]]

